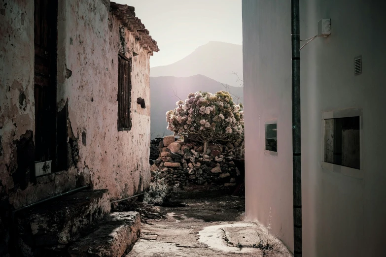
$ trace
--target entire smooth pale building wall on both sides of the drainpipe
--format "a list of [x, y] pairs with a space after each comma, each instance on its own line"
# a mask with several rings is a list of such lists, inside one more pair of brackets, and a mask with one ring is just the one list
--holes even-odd
[[[300, 0], [301, 38], [316, 35], [321, 18], [332, 23], [331, 36], [301, 51], [303, 256], [385, 255], [385, 9], [375, 1]], [[290, 19], [289, 1], [243, 0], [246, 137], [255, 138], [246, 140], [246, 217], [266, 223], [272, 207], [274, 230], [282, 224], [293, 249]], [[363, 73], [354, 76], [358, 55]], [[363, 179], [321, 169], [321, 113], [347, 108], [363, 110]], [[263, 151], [264, 121], [273, 118], [278, 157]]]

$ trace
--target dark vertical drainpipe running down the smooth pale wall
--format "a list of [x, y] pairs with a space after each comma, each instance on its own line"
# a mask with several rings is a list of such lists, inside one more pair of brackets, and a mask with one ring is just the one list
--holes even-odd
[[300, 144], [299, 0], [291, 0], [293, 254], [302, 256], [302, 161]]

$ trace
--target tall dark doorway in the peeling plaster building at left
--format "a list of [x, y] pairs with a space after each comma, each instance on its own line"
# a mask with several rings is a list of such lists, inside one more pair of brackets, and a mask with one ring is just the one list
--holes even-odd
[[58, 0], [35, 0], [35, 161], [56, 164]]

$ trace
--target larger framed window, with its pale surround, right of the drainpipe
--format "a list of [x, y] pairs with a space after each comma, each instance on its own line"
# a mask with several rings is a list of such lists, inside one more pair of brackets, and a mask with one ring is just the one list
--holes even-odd
[[324, 112], [322, 131], [322, 168], [362, 178], [362, 110]]

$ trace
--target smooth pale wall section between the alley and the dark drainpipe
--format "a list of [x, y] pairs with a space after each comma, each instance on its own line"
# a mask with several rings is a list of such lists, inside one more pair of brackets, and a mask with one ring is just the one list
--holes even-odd
[[[279, 1], [278, 1], [279, 2]], [[243, 1], [246, 218], [292, 248], [290, 1]], [[288, 42], [287, 42], [288, 41]], [[265, 123], [278, 121], [278, 156], [266, 155]], [[287, 126], [289, 124], [289, 127]]]

